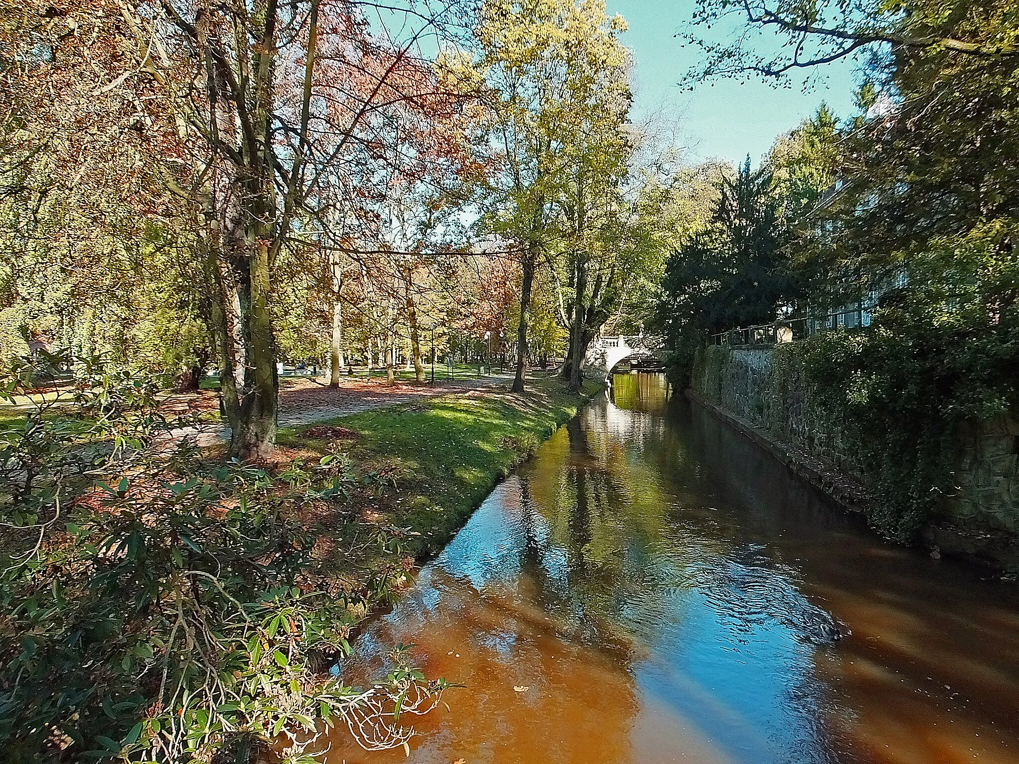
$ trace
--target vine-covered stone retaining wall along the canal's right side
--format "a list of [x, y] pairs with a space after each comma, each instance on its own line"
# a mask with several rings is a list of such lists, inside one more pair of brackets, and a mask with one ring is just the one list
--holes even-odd
[[[804, 377], [802, 359], [794, 352], [799, 347], [707, 347], [697, 356], [687, 395], [844, 508], [862, 512], [886, 538], [1015, 578], [1015, 420], [963, 423], [935, 455], [906, 448], [875, 466], [863, 458], [859, 434], [850, 437], [842, 416]], [[923, 501], [903, 504], [888, 475], [921, 457], [944, 469], [948, 482], [938, 483], [940, 473], [928, 471], [916, 487], [923, 489]]]

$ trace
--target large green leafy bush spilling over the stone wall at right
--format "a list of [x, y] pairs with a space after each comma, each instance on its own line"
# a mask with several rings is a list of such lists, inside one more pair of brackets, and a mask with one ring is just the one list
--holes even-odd
[[934, 241], [869, 329], [819, 334], [795, 350], [875, 489], [874, 524], [893, 538], [913, 539], [955, 490], [960, 425], [1016, 405], [1019, 291], [1008, 234], [994, 225]]

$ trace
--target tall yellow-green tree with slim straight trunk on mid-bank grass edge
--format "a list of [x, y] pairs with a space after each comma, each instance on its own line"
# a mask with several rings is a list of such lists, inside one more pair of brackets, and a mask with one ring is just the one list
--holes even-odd
[[475, 35], [488, 86], [494, 167], [482, 188], [479, 226], [511, 242], [521, 267], [515, 391], [524, 389], [539, 263], [550, 260], [567, 235], [561, 223], [571, 196], [578, 209], [571, 183], [576, 188], [577, 178], [586, 178], [586, 187], [593, 173], [615, 172], [609, 166], [626, 162], [620, 138], [630, 105], [630, 57], [618, 39], [625, 30], [622, 17], [605, 13], [603, 0], [489, 0], [482, 6]]

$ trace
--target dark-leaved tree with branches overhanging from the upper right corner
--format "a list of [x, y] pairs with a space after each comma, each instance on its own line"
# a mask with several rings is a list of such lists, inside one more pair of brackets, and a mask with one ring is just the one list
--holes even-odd
[[[965, 235], [981, 220], [1011, 217], [1019, 177], [1013, 119], [1019, 100], [1013, 3], [930, 0], [905, 6], [702, 0], [697, 22], [742, 14], [749, 31], [791, 45], [761, 52], [753, 35], [716, 46], [691, 34], [708, 56], [699, 76], [789, 72], [866, 49], [861, 113], [833, 135], [827, 115], [800, 139], [819, 141], [824, 173], [839, 193], [812, 216], [817, 251], [839, 278], [866, 291], [902, 269], [909, 251], [932, 237]], [[796, 51], [790, 55], [789, 51]], [[810, 133], [808, 135], [808, 132]], [[839, 144], [835, 166], [828, 163]], [[821, 148], [825, 145], [828, 148]], [[819, 157], [820, 158], [820, 157]]]

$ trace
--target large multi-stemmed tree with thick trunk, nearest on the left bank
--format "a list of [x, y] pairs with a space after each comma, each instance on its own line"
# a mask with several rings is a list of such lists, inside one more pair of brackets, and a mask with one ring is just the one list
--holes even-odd
[[163, 177], [197, 211], [235, 455], [266, 455], [275, 439], [277, 259], [336, 219], [338, 171], [371, 160], [374, 118], [431, 85], [416, 76], [416, 46], [437, 22], [405, 10], [416, 23], [397, 43], [343, 0], [122, 6], [137, 42], [128, 78], [156, 88], [192, 160], [165, 162]]

